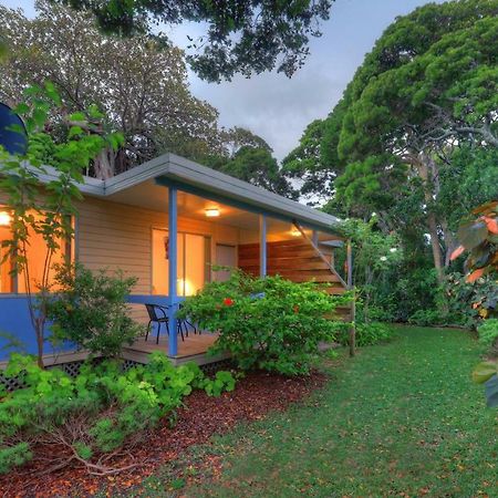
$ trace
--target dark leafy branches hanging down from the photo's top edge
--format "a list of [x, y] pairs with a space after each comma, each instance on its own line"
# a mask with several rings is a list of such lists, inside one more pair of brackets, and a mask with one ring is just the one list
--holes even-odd
[[[274, 68], [291, 76], [309, 54], [310, 37], [329, 19], [333, 0], [149, 1], [53, 0], [96, 15], [106, 33], [151, 32], [156, 24], [207, 22], [207, 34], [191, 40], [198, 53], [189, 56], [194, 71], [208, 81], [246, 76]], [[155, 34], [157, 37], [157, 34]]]

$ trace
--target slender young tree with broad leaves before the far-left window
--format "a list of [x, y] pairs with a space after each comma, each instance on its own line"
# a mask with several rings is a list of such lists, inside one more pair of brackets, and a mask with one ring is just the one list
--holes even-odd
[[[49, 115], [60, 105], [60, 96], [53, 84], [25, 90], [27, 102], [14, 110], [23, 117], [28, 136], [43, 133]], [[70, 117], [82, 121], [80, 113]], [[25, 156], [11, 156], [0, 151], [0, 189], [6, 194], [6, 205], [13, 221], [11, 239], [4, 240], [6, 253], [0, 263], [10, 261], [13, 273], [22, 276], [29, 300], [30, 317], [38, 344], [38, 361], [42, 364], [46, 302], [50, 291], [51, 267], [54, 255], [73, 237], [72, 219], [75, 200], [81, 198], [76, 184], [82, 181], [82, 172], [102, 148], [120, 144], [118, 135], [94, 135], [81, 126], [71, 126], [64, 143], [54, 148], [52, 163], [55, 174], [43, 185], [40, 196], [40, 177], [46, 174], [45, 166], [33, 156], [30, 148]], [[28, 258], [30, 234], [41, 235], [45, 243], [45, 258], [41, 281], [33, 288], [32, 261]], [[34, 293], [38, 294], [34, 297]]]

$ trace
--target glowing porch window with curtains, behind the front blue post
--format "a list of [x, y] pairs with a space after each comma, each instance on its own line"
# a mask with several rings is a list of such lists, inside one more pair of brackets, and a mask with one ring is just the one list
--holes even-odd
[[[167, 230], [153, 229], [152, 293], [168, 294], [169, 237]], [[193, 295], [207, 280], [209, 238], [193, 234], [178, 234], [177, 286], [178, 295]]]

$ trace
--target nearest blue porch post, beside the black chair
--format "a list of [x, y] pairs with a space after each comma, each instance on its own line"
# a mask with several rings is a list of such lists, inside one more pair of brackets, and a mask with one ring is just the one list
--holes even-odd
[[178, 297], [176, 290], [177, 281], [177, 261], [178, 261], [178, 208], [177, 194], [175, 187], [168, 187], [168, 356], [176, 356], [178, 354], [178, 336], [176, 333], [177, 320], [176, 309], [178, 305]]

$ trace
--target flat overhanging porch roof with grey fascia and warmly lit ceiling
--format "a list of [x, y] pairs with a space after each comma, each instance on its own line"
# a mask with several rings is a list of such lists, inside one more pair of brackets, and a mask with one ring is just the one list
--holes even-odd
[[[48, 168], [48, 175], [41, 180], [50, 180], [54, 174]], [[167, 188], [164, 187], [169, 185], [178, 189], [180, 216], [204, 218], [205, 209], [215, 203], [222, 207], [225, 222], [240, 228], [255, 228], [258, 214], [287, 224], [298, 220], [302, 226], [328, 234], [334, 234], [339, 222], [334, 216], [174, 154], [164, 154], [107, 180], [85, 178], [80, 189], [91, 196], [166, 212]]]

